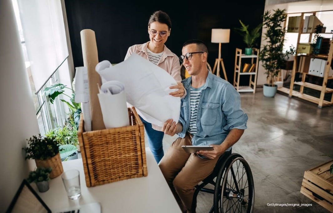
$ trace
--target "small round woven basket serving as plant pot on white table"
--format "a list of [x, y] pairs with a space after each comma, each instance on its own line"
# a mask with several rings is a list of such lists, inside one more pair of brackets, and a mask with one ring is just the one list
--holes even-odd
[[52, 158], [47, 159], [47, 160], [35, 159], [35, 162], [36, 162], [37, 167], [44, 167], [44, 168], [51, 167], [52, 168], [52, 172], [50, 173], [50, 178], [51, 179], [55, 178], [55, 177], [58, 177], [64, 171], [64, 169], [62, 167], [62, 163], [61, 163], [59, 153], [56, 154], [55, 156], [53, 156]]

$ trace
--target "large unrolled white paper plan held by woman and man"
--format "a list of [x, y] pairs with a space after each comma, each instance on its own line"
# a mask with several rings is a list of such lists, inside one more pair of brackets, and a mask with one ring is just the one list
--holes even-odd
[[133, 53], [115, 66], [96, 66], [96, 71], [107, 81], [122, 82], [127, 102], [146, 121], [158, 126], [168, 119], [178, 122], [180, 98], [169, 95], [177, 82], [164, 69]]

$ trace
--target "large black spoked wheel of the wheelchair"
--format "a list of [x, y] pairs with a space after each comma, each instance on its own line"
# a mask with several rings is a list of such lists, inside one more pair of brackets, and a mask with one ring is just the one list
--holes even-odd
[[236, 153], [230, 155], [216, 178], [214, 212], [253, 212], [254, 184], [251, 169]]

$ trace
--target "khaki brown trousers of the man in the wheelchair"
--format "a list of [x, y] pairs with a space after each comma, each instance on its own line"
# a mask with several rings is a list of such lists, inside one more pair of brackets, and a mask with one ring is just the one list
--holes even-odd
[[191, 146], [191, 135], [177, 138], [162, 158], [159, 166], [180, 209], [191, 212], [193, 194], [200, 181], [208, 177], [218, 160], [187, 153], [181, 146]]

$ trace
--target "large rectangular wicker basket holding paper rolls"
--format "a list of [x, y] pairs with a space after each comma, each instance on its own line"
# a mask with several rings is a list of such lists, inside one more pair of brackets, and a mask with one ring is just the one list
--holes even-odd
[[81, 115], [78, 139], [87, 187], [147, 176], [143, 123], [135, 108], [128, 108], [130, 125], [84, 131]]

